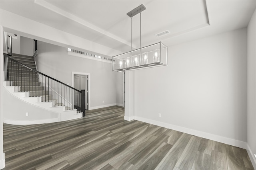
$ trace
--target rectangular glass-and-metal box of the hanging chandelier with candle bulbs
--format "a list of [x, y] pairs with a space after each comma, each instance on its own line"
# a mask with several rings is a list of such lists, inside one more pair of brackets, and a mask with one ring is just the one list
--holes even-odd
[[137, 70], [167, 65], [167, 46], [155, 43], [113, 57], [113, 71]]

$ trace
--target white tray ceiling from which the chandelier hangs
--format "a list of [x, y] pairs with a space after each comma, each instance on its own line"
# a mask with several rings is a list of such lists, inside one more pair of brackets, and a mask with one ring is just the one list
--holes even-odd
[[[0, 0], [1, 8], [118, 51], [130, 51], [131, 18], [140, 4], [142, 47], [175, 45], [246, 27], [256, 0]], [[133, 17], [133, 47], [140, 47], [140, 15]], [[169, 30], [170, 34], [155, 34]]]

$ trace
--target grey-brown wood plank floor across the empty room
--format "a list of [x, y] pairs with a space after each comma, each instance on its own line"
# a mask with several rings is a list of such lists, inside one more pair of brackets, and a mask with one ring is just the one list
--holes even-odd
[[40, 125], [4, 124], [4, 170], [253, 170], [245, 149], [125, 121], [124, 108]]

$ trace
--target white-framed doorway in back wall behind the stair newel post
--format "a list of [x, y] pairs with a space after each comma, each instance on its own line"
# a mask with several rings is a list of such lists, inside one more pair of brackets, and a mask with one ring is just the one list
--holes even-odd
[[[72, 87], [77, 90], [85, 90], [85, 109], [90, 108], [90, 74], [72, 72]], [[77, 94], [75, 94], [77, 95]], [[74, 96], [79, 98], [79, 96]]]

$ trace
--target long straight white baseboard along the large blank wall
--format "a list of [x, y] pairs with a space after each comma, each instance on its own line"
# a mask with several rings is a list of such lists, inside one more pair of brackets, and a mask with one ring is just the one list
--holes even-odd
[[188, 133], [190, 135], [203, 137], [203, 138], [206, 138], [206, 139], [210, 139], [212, 141], [217, 141], [217, 142], [220, 142], [220, 143], [225, 143], [225, 144], [232, 145], [232, 146], [235, 146], [235, 147], [247, 149], [247, 143], [243, 142], [243, 141], [238, 141], [238, 140], [235, 140], [235, 139], [230, 139], [230, 138], [227, 138], [227, 137], [218, 136], [218, 135], [214, 135], [214, 134], [211, 134], [211, 133], [197, 131], [197, 130], [194, 130], [194, 129], [188, 129], [186, 127], [180, 127], [180, 126], [172, 125], [172, 124], [169, 124], [169, 123], [163, 123], [163, 122], [160, 122], [160, 121], [146, 119], [146, 118], [143, 118], [143, 117], [134, 116], [134, 119], [138, 120], [138, 121], [143, 121], [143, 122], [146, 122], [146, 123], [150, 123], [150, 124], [153, 124], [153, 125], [165, 127], [165, 128], [168, 128], [168, 129], [172, 129], [172, 130], [175, 130], [175, 131]]

